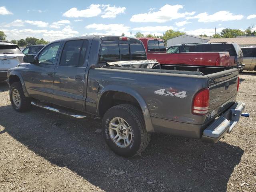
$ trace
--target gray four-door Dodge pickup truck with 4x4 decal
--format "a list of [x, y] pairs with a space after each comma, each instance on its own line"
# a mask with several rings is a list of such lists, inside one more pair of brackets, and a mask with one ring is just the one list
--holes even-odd
[[108, 146], [140, 154], [161, 132], [216, 143], [237, 124], [238, 69], [159, 65], [142, 42], [119, 36], [57, 40], [8, 70], [13, 108], [31, 105], [72, 116], [102, 118]]

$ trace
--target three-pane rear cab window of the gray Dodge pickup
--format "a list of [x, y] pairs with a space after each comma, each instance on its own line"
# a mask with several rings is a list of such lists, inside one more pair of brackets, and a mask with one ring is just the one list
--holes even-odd
[[102, 41], [98, 64], [125, 60], [146, 60], [144, 46], [137, 42], [124, 43], [118, 40]]

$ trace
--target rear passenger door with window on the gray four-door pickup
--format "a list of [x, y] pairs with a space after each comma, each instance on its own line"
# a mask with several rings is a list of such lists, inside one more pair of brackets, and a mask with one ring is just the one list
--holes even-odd
[[54, 70], [54, 103], [82, 110], [84, 80], [87, 67], [88, 40], [70, 40], [64, 44]]

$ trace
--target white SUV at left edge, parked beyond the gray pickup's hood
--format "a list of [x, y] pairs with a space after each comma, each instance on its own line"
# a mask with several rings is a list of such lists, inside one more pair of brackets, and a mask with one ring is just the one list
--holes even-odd
[[23, 56], [18, 45], [0, 41], [0, 81], [7, 79], [7, 70], [20, 64]]

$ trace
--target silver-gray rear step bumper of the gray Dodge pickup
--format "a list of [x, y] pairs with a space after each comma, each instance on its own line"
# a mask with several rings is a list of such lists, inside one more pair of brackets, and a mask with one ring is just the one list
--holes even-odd
[[216, 143], [224, 134], [230, 133], [238, 123], [245, 108], [242, 102], [235, 102], [224, 114], [214, 120], [202, 135], [203, 142]]

